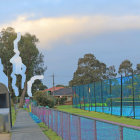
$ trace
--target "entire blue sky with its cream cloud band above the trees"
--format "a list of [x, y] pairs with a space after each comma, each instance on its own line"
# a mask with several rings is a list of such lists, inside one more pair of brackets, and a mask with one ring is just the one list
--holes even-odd
[[0, 30], [8, 26], [35, 34], [47, 71], [43, 83], [68, 85], [78, 59], [93, 53], [114, 65], [140, 63], [139, 0], [6, 0], [0, 1]]

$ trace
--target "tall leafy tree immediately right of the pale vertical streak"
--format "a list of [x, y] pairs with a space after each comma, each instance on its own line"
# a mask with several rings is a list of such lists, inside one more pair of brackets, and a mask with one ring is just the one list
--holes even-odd
[[43, 55], [39, 53], [39, 50], [36, 47], [36, 43], [38, 43], [38, 39], [35, 35], [31, 35], [26, 33], [21, 37], [19, 42], [19, 51], [20, 56], [24, 65], [26, 66], [26, 81], [24, 84], [24, 90], [22, 91], [20, 97], [19, 106], [22, 107], [24, 103], [25, 94], [27, 91], [27, 81], [36, 74], [44, 74], [46, 67], [44, 67]]

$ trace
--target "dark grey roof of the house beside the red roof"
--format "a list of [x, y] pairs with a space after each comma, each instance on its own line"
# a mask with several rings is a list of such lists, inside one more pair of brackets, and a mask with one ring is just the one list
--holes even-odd
[[73, 95], [72, 88], [63, 88], [54, 92], [54, 96], [65, 96], [65, 95], [72, 96]]

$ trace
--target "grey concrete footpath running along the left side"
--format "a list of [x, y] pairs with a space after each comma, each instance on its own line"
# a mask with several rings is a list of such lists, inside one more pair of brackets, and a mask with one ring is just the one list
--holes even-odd
[[12, 128], [11, 140], [49, 140], [40, 127], [31, 119], [29, 113], [19, 110]]

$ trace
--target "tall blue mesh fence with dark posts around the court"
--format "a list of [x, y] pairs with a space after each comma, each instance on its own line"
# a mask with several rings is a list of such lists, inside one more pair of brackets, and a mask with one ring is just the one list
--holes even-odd
[[140, 75], [73, 87], [73, 106], [140, 119]]

